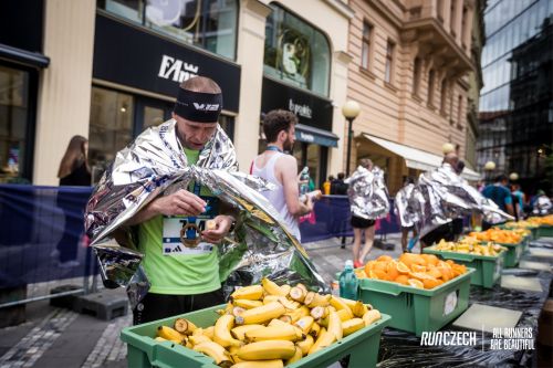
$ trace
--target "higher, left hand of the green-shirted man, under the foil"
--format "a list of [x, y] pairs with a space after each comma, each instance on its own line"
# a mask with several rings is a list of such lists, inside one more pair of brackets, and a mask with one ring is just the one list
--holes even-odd
[[165, 215], [198, 215], [206, 211], [206, 204], [201, 198], [185, 189], [159, 197], [152, 203], [157, 213]]

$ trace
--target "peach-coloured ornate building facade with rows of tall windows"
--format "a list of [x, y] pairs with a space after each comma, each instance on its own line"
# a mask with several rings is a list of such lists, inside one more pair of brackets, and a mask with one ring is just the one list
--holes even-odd
[[[465, 159], [472, 55], [473, 0], [353, 0], [348, 98], [361, 104], [353, 123], [351, 167], [371, 158], [390, 193], [407, 177], [436, 168], [442, 145]], [[474, 98], [474, 97], [472, 97]], [[347, 136], [347, 127], [344, 136]], [[477, 180], [470, 167], [463, 175]]]

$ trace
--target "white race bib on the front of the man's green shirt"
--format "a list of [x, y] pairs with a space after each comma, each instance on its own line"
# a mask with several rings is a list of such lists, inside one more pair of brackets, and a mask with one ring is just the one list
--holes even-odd
[[206, 201], [206, 212], [197, 217], [164, 215], [163, 254], [206, 254], [213, 250], [213, 244], [201, 241], [206, 222], [219, 214], [219, 199], [201, 197]]

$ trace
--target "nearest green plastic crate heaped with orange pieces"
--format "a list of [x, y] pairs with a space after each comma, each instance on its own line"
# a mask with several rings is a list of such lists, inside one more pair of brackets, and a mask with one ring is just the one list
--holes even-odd
[[359, 298], [389, 314], [390, 327], [420, 336], [422, 332], [440, 329], [468, 308], [473, 272], [468, 269], [467, 273], [432, 290], [359, 278]]

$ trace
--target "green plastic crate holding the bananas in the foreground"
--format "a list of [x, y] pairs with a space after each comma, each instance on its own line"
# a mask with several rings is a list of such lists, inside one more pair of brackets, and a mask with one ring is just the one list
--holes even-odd
[[[191, 320], [198, 327], [215, 325], [219, 317], [215, 311], [225, 308], [223, 305], [201, 309], [165, 319], [158, 319], [147, 324], [124, 328], [121, 339], [127, 344], [128, 368], [218, 368], [210, 357], [188, 349], [181, 345], [170, 341], [156, 341], [158, 326], [173, 326], [175, 319], [182, 317]], [[349, 355], [349, 368], [375, 367], [378, 359], [378, 347], [380, 334], [384, 327], [389, 325], [390, 316], [382, 314], [382, 318], [368, 328], [344, 337], [332, 346], [306, 356], [303, 359], [286, 366], [289, 368], [317, 368], [327, 367], [333, 362]]]

